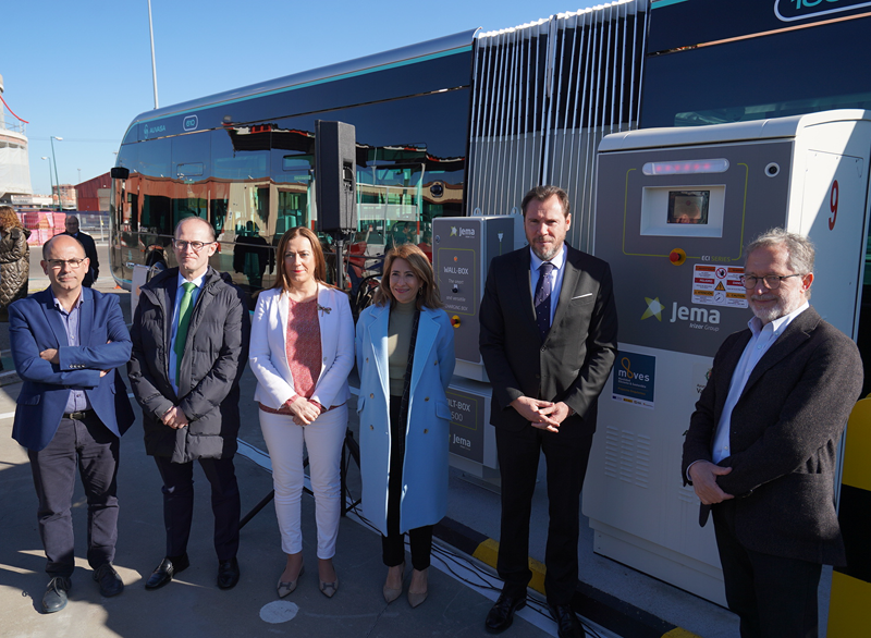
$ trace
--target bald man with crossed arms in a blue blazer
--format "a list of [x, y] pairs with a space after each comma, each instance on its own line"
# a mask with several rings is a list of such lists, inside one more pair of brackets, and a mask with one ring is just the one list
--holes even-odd
[[134, 420], [115, 369], [130, 359], [131, 341], [115, 295], [82, 287], [88, 260], [65, 235], [42, 247], [51, 285], [12, 304], [9, 333], [23, 380], [12, 437], [27, 449], [37, 518], [51, 576], [46, 613], [66, 606], [75, 557], [70, 515], [76, 464], [88, 501], [88, 553], [103, 596], [124, 589], [112, 567], [118, 538], [115, 498], [119, 437]]

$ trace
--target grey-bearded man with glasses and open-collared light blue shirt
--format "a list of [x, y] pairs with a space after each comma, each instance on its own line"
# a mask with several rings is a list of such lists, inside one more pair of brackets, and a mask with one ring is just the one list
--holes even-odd
[[856, 344], [808, 304], [813, 245], [774, 229], [747, 247], [749, 329], [714, 357], [684, 442], [683, 476], [713, 512], [743, 638], [817, 636], [823, 564], [844, 564], [837, 444], [862, 388]]

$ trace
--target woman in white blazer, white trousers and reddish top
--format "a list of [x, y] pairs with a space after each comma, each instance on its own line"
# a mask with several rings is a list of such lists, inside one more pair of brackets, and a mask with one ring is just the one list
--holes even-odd
[[332, 564], [341, 513], [339, 465], [347, 428], [347, 376], [354, 366], [354, 320], [347, 295], [324, 283], [317, 236], [291, 229], [277, 249], [274, 287], [260, 293], [252, 321], [249, 361], [260, 428], [272, 462], [275, 514], [287, 563], [278, 593], [296, 589], [303, 573], [299, 507], [303, 444], [308, 450], [318, 527], [320, 591], [332, 597]]

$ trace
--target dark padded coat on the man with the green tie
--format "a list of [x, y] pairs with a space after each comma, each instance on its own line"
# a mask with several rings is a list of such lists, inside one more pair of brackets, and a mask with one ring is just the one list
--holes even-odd
[[[143, 408], [145, 449], [173, 463], [230, 458], [237, 449], [238, 381], [248, 359], [250, 318], [242, 292], [209, 267], [187, 329], [176, 395], [169, 379], [172, 314], [179, 269], [140, 289], [127, 365]], [[161, 417], [177, 405], [189, 425], [172, 429]]]

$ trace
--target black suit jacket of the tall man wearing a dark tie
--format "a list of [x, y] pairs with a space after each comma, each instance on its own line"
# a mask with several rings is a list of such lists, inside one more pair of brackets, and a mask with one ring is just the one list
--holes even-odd
[[608, 263], [565, 245], [563, 287], [542, 343], [530, 292], [529, 248], [493, 259], [480, 311], [480, 348], [493, 385], [490, 422], [519, 431], [528, 422], [511, 402], [562, 401], [575, 416], [560, 433], [596, 430], [597, 401], [617, 349], [617, 308]]

